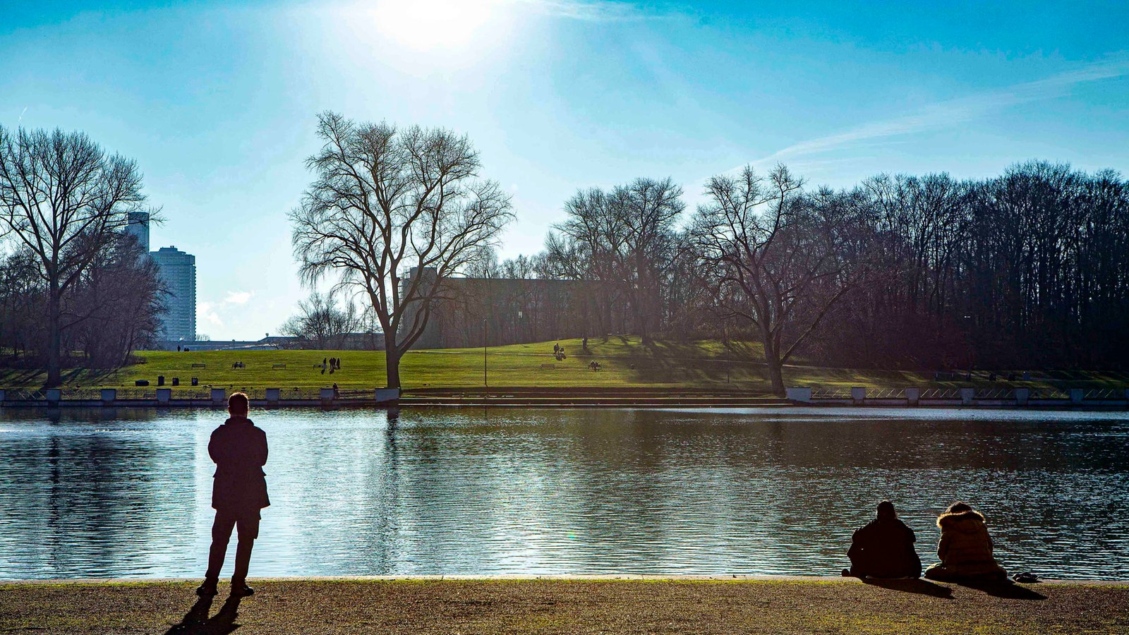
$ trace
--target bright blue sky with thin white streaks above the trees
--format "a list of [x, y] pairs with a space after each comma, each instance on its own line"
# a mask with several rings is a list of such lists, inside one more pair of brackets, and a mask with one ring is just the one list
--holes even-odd
[[[944, 7], [942, 9], [942, 7]], [[1129, 169], [1129, 3], [0, 0], [0, 125], [137, 160], [196, 256], [198, 331], [274, 333], [317, 113], [444, 127], [511, 193], [499, 254], [578, 189], [782, 163], [812, 186]]]

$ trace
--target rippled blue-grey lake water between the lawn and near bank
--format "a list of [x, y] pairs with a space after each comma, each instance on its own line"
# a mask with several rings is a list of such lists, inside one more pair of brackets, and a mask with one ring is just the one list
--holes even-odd
[[[273, 503], [253, 576], [833, 574], [851, 530], [889, 497], [926, 563], [936, 513], [963, 498], [988, 516], [1008, 569], [1129, 579], [1126, 412], [252, 417], [270, 440]], [[0, 411], [0, 579], [202, 575], [207, 443], [222, 419]]]

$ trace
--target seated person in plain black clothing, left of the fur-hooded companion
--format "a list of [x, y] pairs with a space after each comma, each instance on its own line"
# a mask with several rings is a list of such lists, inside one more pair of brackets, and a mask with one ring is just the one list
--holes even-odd
[[913, 549], [913, 530], [898, 519], [894, 504], [878, 503], [878, 517], [851, 537], [850, 569], [856, 577], [921, 577], [921, 559]]

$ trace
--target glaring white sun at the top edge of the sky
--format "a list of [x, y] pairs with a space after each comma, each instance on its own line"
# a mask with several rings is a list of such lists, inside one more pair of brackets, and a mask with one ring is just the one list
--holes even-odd
[[377, 29], [397, 43], [428, 51], [466, 45], [502, 14], [506, 0], [383, 0]]

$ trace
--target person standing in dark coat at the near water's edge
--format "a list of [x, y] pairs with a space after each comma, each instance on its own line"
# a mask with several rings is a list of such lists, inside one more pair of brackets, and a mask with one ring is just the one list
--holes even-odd
[[266, 433], [247, 418], [247, 395], [236, 392], [227, 400], [230, 417], [212, 432], [208, 454], [216, 463], [212, 481], [212, 545], [208, 554], [208, 573], [196, 589], [201, 597], [215, 595], [219, 571], [224, 567], [231, 529], [238, 528], [239, 542], [235, 549], [235, 573], [231, 574], [231, 595], [254, 593], [247, 586], [247, 567], [251, 549], [259, 538], [259, 511], [271, 504], [266, 497]]

